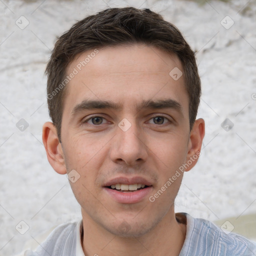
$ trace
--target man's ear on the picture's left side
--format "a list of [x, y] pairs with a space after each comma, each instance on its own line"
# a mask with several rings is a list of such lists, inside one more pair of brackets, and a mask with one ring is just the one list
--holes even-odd
[[45, 122], [42, 127], [42, 142], [52, 168], [59, 174], [66, 173], [66, 166], [56, 127], [52, 122]]

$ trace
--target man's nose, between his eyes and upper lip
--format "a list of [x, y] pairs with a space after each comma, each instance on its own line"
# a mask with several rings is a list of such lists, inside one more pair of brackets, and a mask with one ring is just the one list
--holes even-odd
[[[127, 126], [127, 123], [125, 123]], [[135, 165], [145, 162], [147, 158], [147, 146], [142, 131], [135, 123], [130, 123], [130, 127], [116, 127], [116, 135], [113, 137], [113, 143], [110, 151], [110, 158], [116, 163], [126, 163]]]

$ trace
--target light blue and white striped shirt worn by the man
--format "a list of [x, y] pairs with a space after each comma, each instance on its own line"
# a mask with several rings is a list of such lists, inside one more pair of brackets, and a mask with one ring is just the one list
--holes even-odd
[[[186, 236], [179, 256], [256, 256], [256, 243], [226, 233], [208, 220], [179, 214], [186, 217]], [[27, 250], [24, 256], [84, 256], [80, 232], [81, 220], [61, 224], [35, 251]]]

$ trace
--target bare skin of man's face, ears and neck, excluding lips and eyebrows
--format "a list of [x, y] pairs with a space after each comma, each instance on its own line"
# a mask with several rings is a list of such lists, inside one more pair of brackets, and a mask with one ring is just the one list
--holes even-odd
[[[90, 52], [79, 54], [67, 73]], [[80, 175], [70, 185], [81, 205], [86, 256], [178, 255], [181, 250], [186, 226], [175, 219], [174, 199], [182, 173], [154, 202], [148, 200], [200, 151], [204, 136], [201, 118], [189, 130], [188, 94], [183, 76], [175, 81], [169, 75], [174, 67], [182, 70], [177, 56], [143, 44], [101, 48], [67, 85], [61, 143], [51, 122], [43, 126], [54, 170], [65, 174], [75, 169]], [[79, 108], [74, 113], [88, 99], [111, 100], [119, 107]], [[175, 100], [180, 109], [136, 108], [143, 100], [161, 99]], [[131, 124], [126, 131], [118, 126], [123, 118]], [[150, 193], [137, 203], [116, 202], [102, 185], [117, 176], [147, 179]]]

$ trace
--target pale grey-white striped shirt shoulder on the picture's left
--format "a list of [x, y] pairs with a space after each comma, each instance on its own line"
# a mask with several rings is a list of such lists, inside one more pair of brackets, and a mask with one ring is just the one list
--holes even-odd
[[76, 225], [77, 221], [58, 225], [35, 251], [26, 250], [24, 256], [75, 255]]

